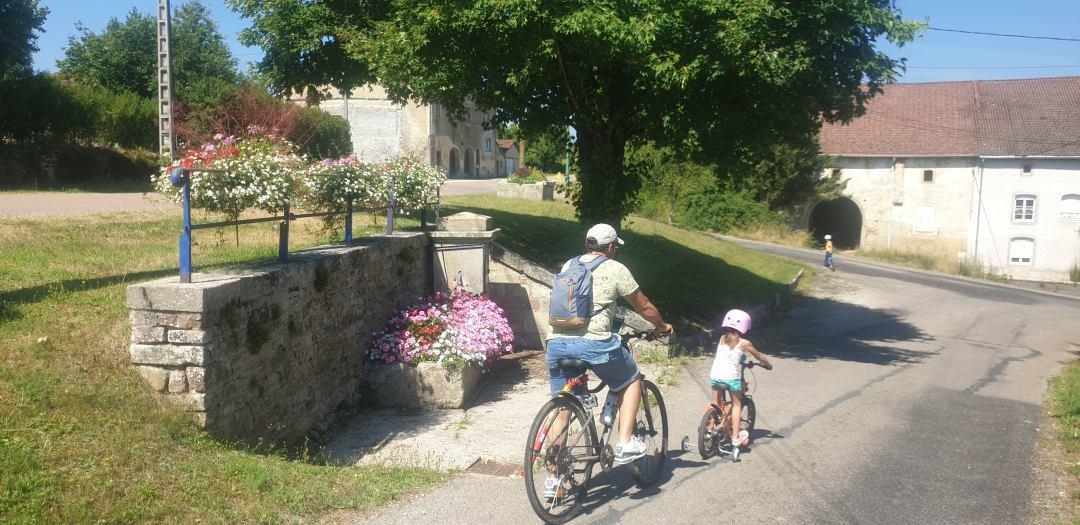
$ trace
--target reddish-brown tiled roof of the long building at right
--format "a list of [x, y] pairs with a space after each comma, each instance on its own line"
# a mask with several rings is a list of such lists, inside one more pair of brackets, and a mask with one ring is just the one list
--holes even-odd
[[1080, 77], [890, 84], [849, 124], [825, 124], [837, 157], [1080, 157]]

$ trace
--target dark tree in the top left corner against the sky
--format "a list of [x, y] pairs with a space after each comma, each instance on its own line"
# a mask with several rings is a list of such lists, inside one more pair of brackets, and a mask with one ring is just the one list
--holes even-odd
[[49, 10], [39, 0], [0, 0], [0, 79], [24, 76], [31, 68], [38, 48], [37, 32], [45, 23]]

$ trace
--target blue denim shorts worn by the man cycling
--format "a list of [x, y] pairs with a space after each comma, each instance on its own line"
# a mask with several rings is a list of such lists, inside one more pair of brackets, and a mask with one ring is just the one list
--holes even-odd
[[[580, 376], [584, 371], [559, 368], [555, 363], [565, 358], [580, 359], [590, 364], [589, 369], [606, 382], [611, 391], [618, 392], [630, 386], [640, 372], [637, 363], [630, 356], [618, 335], [607, 340], [585, 339], [584, 337], [556, 337], [548, 339], [548, 374], [551, 376], [551, 393], [554, 394], [566, 381]], [[582, 387], [575, 393], [584, 393]]]

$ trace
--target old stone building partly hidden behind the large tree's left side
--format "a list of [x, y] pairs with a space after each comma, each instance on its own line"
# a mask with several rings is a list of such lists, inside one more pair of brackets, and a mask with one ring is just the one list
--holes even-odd
[[469, 111], [450, 121], [436, 104], [405, 106], [390, 102], [378, 84], [345, 95], [330, 90], [320, 108], [349, 122], [353, 151], [363, 159], [411, 152], [428, 159], [451, 178], [504, 176], [507, 160], [495, 130], [485, 130], [487, 113]]

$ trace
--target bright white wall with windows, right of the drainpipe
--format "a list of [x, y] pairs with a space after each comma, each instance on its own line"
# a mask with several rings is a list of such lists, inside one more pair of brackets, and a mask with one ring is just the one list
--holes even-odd
[[[1080, 159], [985, 159], [982, 180], [978, 259], [1013, 279], [1068, 281], [1080, 264], [1080, 217], [1063, 215], [1062, 197], [1080, 194]], [[1036, 197], [1032, 221], [1013, 217], [1021, 194]], [[1010, 260], [1010, 243], [1018, 238], [1035, 242], [1030, 262]], [[974, 235], [971, 244], [974, 253]]]

